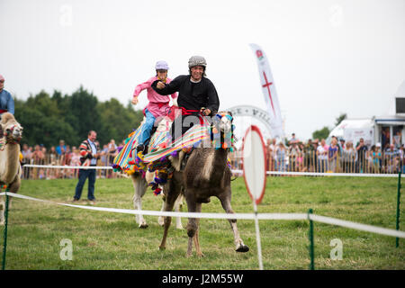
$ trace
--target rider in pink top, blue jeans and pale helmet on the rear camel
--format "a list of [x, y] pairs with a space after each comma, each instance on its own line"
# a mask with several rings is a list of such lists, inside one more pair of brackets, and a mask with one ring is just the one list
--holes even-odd
[[[167, 78], [167, 70], [168, 65], [165, 61], [157, 61], [156, 63], [156, 72], [157, 75], [148, 79], [148, 81], [139, 84], [136, 86], [135, 91], [133, 93], [132, 102], [134, 105], [138, 103], [138, 95], [141, 91], [147, 89], [148, 91], [148, 105], [143, 110], [143, 113], [146, 117], [146, 121], [142, 126], [142, 131], [139, 135], [138, 140], [138, 147], [137, 151], [144, 151], [145, 145], [150, 138], [150, 132], [155, 124], [155, 121], [160, 118], [166, 116], [170, 106], [170, 96], [169, 95], [160, 95], [152, 89], [151, 84], [156, 80], [163, 81], [165, 83], [170, 83], [171, 79]], [[177, 94], [171, 94], [172, 98], [177, 98]]]

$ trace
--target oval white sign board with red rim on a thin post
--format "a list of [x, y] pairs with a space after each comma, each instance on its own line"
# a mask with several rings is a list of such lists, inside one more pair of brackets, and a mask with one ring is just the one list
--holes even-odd
[[257, 126], [250, 126], [242, 145], [243, 177], [250, 198], [262, 201], [266, 188], [266, 148]]

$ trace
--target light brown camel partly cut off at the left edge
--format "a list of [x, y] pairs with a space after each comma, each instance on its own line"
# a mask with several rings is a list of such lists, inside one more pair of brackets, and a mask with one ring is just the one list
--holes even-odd
[[[22, 176], [20, 140], [23, 137], [23, 127], [10, 112], [4, 112], [1, 117], [0, 136], [4, 139], [4, 145], [0, 148], [0, 184], [7, 185], [10, 192], [17, 193]], [[0, 201], [0, 224], [2, 225], [4, 225], [4, 208], [4, 201]]]

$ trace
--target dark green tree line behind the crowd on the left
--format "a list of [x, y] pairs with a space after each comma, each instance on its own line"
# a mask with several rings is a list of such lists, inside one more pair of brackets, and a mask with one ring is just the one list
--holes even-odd
[[89, 130], [97, 132], [102, 145], [110, 139], [121, 142], [143, 119], [142, 111], [134, 110], [130, 101], [126, 106], [113, 97], [100, 102], [83, 86], [64, 95], [56, 90], [51, 95], [42, 90], [27, 100], [16, 97], [14, 104], [14, 116], [23, 126], [22, 144], [29, 146], [58, 146], [59, 139], [78, 146]]

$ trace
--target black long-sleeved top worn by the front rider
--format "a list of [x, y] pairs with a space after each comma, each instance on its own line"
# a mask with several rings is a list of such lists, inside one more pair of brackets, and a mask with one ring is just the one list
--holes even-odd
[[168, 95], [178, 92], [177, 103], [179, 107], [187, 110], [201, 110], [208, 108], [212, 113], [220, 109], [220, 99], [211, 80], [202, 77], [199, 83], [190, 81], [190, 75], [177, 76], [163, 89], [157, 89], [157, 81], [152, 83], [152, 88], [157, 94]]

